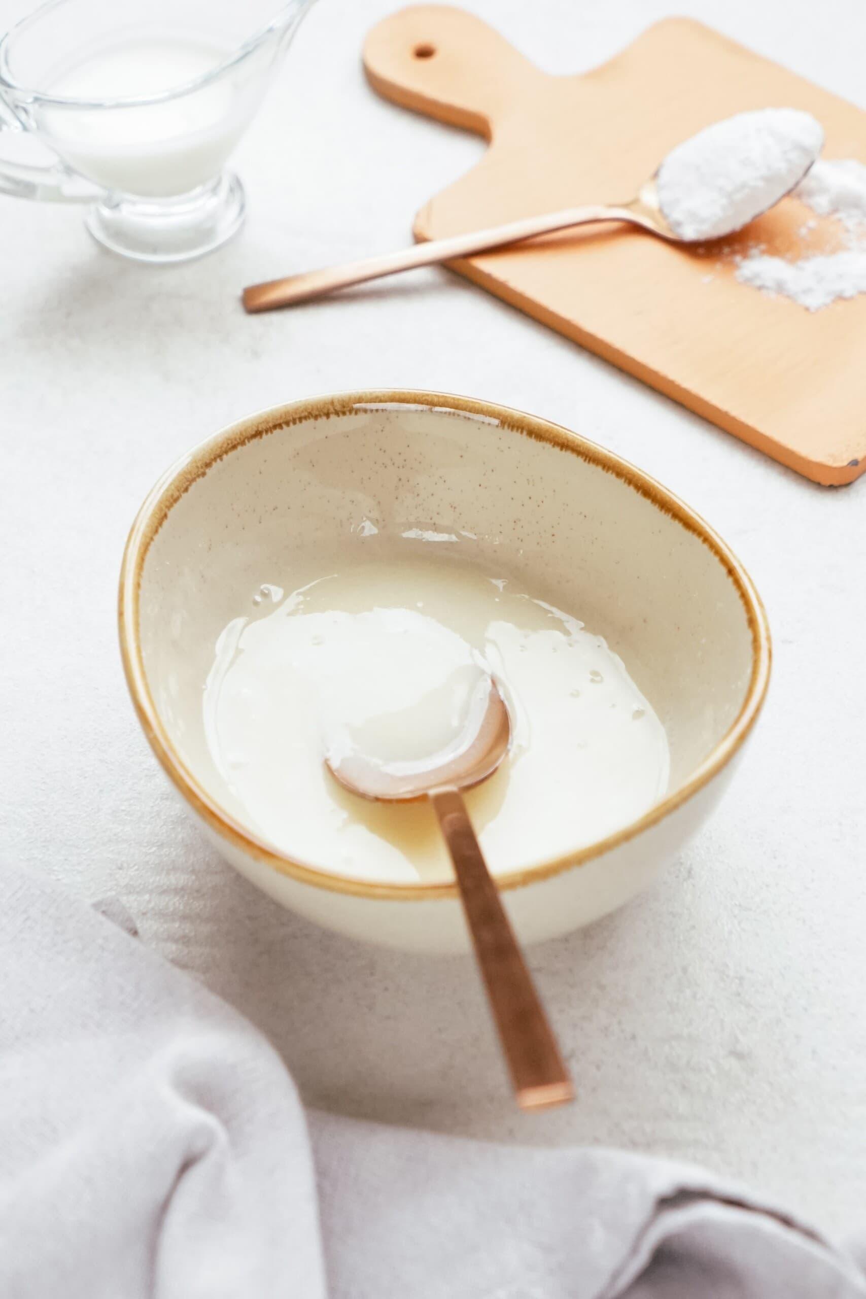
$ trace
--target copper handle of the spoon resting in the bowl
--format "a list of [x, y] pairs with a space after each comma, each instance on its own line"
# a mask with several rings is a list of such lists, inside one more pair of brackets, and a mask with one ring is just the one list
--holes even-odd
[[431, 790], [430, 801], [454, 863], [475, 956], [517, 1102], [523, 1109], [540, 1109], [573, 1100], [571, 1078], [482, 856], [462, 795], [456, 788]]

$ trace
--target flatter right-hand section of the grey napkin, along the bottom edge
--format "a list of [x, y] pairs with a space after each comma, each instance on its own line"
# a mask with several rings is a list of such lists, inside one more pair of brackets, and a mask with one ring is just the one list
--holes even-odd
[[339, 1295], [866, 1295], [845, 1251], [686, 1164], [495, 1146], [315, 1112], [310, 1133]]

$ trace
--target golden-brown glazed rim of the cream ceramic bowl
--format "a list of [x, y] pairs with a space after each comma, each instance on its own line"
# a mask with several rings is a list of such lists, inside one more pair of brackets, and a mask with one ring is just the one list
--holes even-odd
[[151, 490], [132, 523], [123, 552], [118, 624], [123, 670], [130, 694], [132, 695], [132, 703], [135, 704], [144, 734], [170, 779], [187, 803], [192, 805], [221, 838], [257, 861], [301, 883], [313, 885], [317, 889], [327, 889], [331, 892], [393, 902], [421, 902], [458, 896], [457, 885], [452, 881], [397, 883], [393, 881], [353, 879], [348, 876], [334, 874], [317, 866], [308, 866], [300, 861], [293, 861], [291, 857], [277, 852], [269, 844], [257, 839], [216, 803], [173, 747], [153, 704], [142, 660], [138, 625], [139, 590], [144, 560], [147, 559], [147, 552], [153, 538], [160, 531], [177, 501], [190, 487], [199, 478], [203, 478], [212, 465], [248, 442], [265, 438], [292, 425], [305, 423], [309, 420], [330, 418], [332, 416], [349, 414], [357, 408], [370, 409], [375, 407], [386, 409], [393, 409], [395, 407], [432, 408], [443, 413], [452, 412], [470, 418], [480, 416], [482, 427], [484, 423], [495, 423], [499, 427], [519, 433], [539, 442], [547, 442], [561, 451], [579, 456], [582, 460], [599, 466], [605, 473], [614, 474], [634, 491], [640, 492], [641, 496], [650, 500], [657, 509], [675, 518], [687, 531], [692, 533], [709, 547], [719, 564], [722, 564], [736, 588], [752, 631], [752, 678], [743, 707], [728, 731], [684, 785], [674, 790], [673, 794], [669, 794], [667, 798], [662, 799], [661, 803], [657, 803], [636, 821], [630, 822], [630, 825], [615, 834], [610, 834], [605, 839], [600, 839], [575, 852], [565, 853], [549, 861], [540, 861], [534, 866], [525, 866], [521, 870], [509, 870], [497, 876], [496, 882], [500, 889], [521, 889], [525, 885], [548, 879], [551, 876], [557, 876], [574, 866], [582, 866], [595, 857], [601, 857], [621, 843], [626, 843], [650, 826], [657, 825], [691, 799], [693, 794], [697, 794], [699, 790], [721, 772], [745, 740], [761, 711], [770, 675], [771, 648], [766, 613], [752, 578], [724, 542], [699, 514], [653, 478], [641, 473], [641, 470], [627, 461], [621, 460], [619, 456], [605, 451], [592, 442], [587, 442], [561, 425], [551, 423], [536, 416], [526, 414], [522, 410], [514, 410], [509, 407], [493, 405], [488, 401], [478, 401], [474, 397], [454, 396], [445, 392], [413, 390], [340, 392], [274, 407], [240, 420], [238, 423], [230, 425], [197, 447], [193, 447]]

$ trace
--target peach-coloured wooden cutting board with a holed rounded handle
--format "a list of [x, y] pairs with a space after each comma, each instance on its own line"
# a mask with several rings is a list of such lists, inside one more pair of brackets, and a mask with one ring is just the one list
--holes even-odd
[[[387, 99], [489, 140], [418, 213], [417, 239], [628, 199], [674, 144], [744, 109], [806, 109], [824, 156], [866, 161], [866, 113], [686, 18], [551, 77], [480, 19], [419, 5], [374, 27], [364, 64]], [[831, 247], [834, 222], [801, 234], [813, 216], [786, 199], [721, 248], [597, 226], [452, 266], [808, 478], [847, 483], [866, 469], [866, 296], [808, 312], [734, 274], [754, 243]]]

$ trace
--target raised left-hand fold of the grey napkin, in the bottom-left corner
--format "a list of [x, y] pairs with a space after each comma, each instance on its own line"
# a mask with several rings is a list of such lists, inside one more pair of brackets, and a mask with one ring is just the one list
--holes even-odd
[[8, 865], [0, 987], [3, 1299], [325, 1295], [304, 1111], [252, 1025]]

